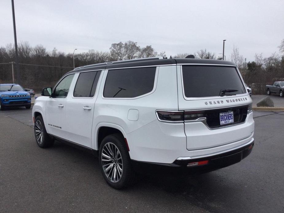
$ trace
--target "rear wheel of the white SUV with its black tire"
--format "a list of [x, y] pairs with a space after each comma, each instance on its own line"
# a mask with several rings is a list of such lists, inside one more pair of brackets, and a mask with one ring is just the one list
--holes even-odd
[[[110, 145], [110, 146], [108, 146]], [[108, 154], [111, 152], [106, 152], [108, 147], [112, 147], [112, 150], [115, 150], [116, 148], [119, 150], [119, 154], [121, 156], [122, 161], [120, 160], [116, 160], [115, 159], [115, 155], [111, 156], [111, 154], [109, 154], [110, 158], [106, 158], [104, 156], [102, 156], [102, 153], [104, 154]], [[118, 153], [118, 152], [117, 152]], [[118, 158], [119, 155], [118, 155]], [[119, 166], [119, 161], [120, 164], [122, 166], [119, 167], [122, 170], [121, 176], [120, 178], [118, 178], [119, 176], [119, 168], [117, 166]], [[131, 162], [130, 162], [130, 157], [129, 157], [129, 153], [128, 150], [126, 148], [126, 144], [124, 141], [124, 138], [120, 135], [120, 134], [111, 134], [106, 136], [103, 141], [101, 142], [101, 145], [99, 147], [99, 166], [101, 168], [101, 171], [103, 173], [103, 177], [106, 180], [107, 184], [109, 184], [111, 187], [115, 188], [115, 189], [123, 189], [126, 188], [130, 185], [132, 185], [135, 181], [135, 172], [132, 168]], [[107, 168], [110, 167], [109, 170], [107, 170]], [[106, 170], [106, 172], [105, 172]], [[107, 172], [109, 171], [109, 177], [107, 176]], [[114, 172], [116, 172], [116, 177], [118, 180], [114, 182], [112, 177], [111, 177], [111, 173], [114, 174]], [[115, 176], [115, 175], [114, 175]]]

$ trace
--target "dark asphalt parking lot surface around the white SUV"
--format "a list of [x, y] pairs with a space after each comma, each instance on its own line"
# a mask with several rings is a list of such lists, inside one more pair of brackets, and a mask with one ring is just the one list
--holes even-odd
[[39, 148], [31, 109], [1, 111], [0, 212], [284, 212], [284, 112], [254, 119], [255, 146], [240, 163], [203, 175], [145, 174], [118, 191], [93, 156], [60, 142]]

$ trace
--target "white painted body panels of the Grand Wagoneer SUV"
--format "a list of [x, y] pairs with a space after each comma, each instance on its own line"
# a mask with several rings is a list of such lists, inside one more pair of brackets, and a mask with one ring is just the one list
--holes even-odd
[[[246, 94], [231, 97], [186, 100], [180, 65], [158, 66], [153, 91], [136, 98], [105, 98], [108, 70], [102, 70], [93, 98], [73, 97], [79, 74], [75, 74], [66, 98], [38, 97], [33, 107], [41, 113], [49, 134], [98, 150], [100, 127], [121, 131], [127, 139], [130, 158], [137, 161], [173, 163], [224, 153], [253, 141], [252, 112], [245, 122], [211, 130], [203, 122], [168, 123], [158, 120], [156, 110], [206, 110], [252, 103]], [[229, 100], [229, 101], [227, 101]], [[240, 100], [240, 101], [239, 101]], [[223, 102], [223, 104], [219, 104]], [[63, 104], [64, 107], [58, 107]], [[90, 110], [83, 107], [88, 106]], [[48, 124], [61, 125], [54, 128]]]

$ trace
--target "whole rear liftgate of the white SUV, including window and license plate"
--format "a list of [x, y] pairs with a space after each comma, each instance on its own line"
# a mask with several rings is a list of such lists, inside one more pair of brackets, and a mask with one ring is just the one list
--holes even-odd
[[177, 76], [188, 150], [220, 146], [252, 134], [251, 128], [231, 127], [246, 120], [251, 103], [235, 66], [181, 65]]

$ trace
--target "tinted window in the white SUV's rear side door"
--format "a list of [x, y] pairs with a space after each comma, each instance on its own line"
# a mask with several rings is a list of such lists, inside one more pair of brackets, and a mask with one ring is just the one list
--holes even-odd
[[73, 96], [74, 97], [93, 97], [101, 71], [81, 72]]

